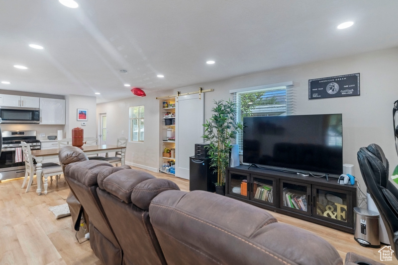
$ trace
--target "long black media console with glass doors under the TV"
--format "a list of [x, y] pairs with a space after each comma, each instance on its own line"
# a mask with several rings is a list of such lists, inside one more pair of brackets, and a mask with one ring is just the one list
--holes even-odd
[[250, 204], [354, 233], [357, 184], [247, 165], [226, 169], [225, 195]]

